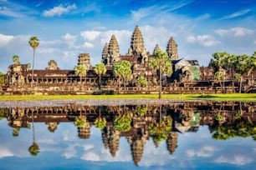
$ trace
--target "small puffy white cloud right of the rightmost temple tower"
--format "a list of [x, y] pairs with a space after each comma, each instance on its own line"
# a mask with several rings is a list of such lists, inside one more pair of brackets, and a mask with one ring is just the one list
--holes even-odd
[[212, 35], [204, 34], [204, 35], [189, 35], [187, 36], [187, 42], [189, 43], [199, 43], [204, 47], [212, 47], [215, 46], [216, 44], [220, 43], [217, 40], [215, 40]]

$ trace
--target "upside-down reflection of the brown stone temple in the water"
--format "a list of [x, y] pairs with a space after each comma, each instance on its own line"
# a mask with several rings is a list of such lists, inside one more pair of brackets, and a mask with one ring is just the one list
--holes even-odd
[[[115, 119], [128, 113], [132, 116], [131, 122], [127, 123], [130, 127], [121, 131], [114, 124]], [[0, 115], [7, 117], [8, 125], [12, 128], [29, 128], [33, 115], [33, 122], [44, 122], [51, 133], [58, 130], [59, 123], [74, 122], [75, 117], [84, 115], [87, 122], [83, 127], [78, 128], [78, 137], [83, 139], [90, 138], [90, 128], [95, 124], [96, 118], [104, 117], [106, 123], [101, 129], [101, 134], [105, 149], [115, 157], [120, 138], [126, 138], [131, 146], [131, 154], [136, 166], [139, 165], [144, 146], [150, 138], [153, 139], [156, 147], [162, 141], [166, 141], [166, 149], [170, 154], [175, 154], [179, 133], [197, 132], [200, 125], [214, 128], [225, 123], [232, 124], [241, 117], [249, 120], [249, 123], [255, 127], [255, 113], [253, 103], [249, 102], [182, 102], [161, 107], [153, 104], [144, 106], [66, 104], [62, 107], [0, 108]], [[171, 130], [159, 135], [161, 138], [157, 138], [160, 133], [156, 132], [156, 135], [152, 135], [151, 125], [155, 123], [160, 126], [166, 117], [172, 119], [170, 122], [172, 124], [166, 125]]]

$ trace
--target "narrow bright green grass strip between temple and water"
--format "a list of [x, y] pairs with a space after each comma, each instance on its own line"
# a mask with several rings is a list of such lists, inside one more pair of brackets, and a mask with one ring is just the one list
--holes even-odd
[[[1, 95], [0, 100], [65, 100], [65, 99], [111, 99], [111, 98], [158, 98], [157, 94], [137, 95]], [[163, 94], [162, 98], [177, 100], [214, 100], [214, 101], [243, 101], [256, 102], [256, 93], [233, 94]]]

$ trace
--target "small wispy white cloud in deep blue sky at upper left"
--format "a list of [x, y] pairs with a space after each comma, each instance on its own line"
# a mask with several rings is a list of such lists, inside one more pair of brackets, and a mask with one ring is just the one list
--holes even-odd
[[69, 5], [67, 7], [63, 7], [60, 4], [58, 7], [54, 7], [52, 9], [44, 11], [44, 17], [54, 17], [54, 16], [61, 16], [63, 13], [69, 13], [71, 10], [76, 9], [76, 5]]

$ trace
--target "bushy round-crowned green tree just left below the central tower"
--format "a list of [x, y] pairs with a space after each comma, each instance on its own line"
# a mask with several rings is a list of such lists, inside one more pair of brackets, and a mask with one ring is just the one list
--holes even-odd
[[122, 79], [125, 82], [125, 79], [131, 79], [131, 62], [126, 60], [116, 62], [114, 65], [114, 74], [115, 77], [118, 77], [118, 92], [120, 92], [120, 80]]

